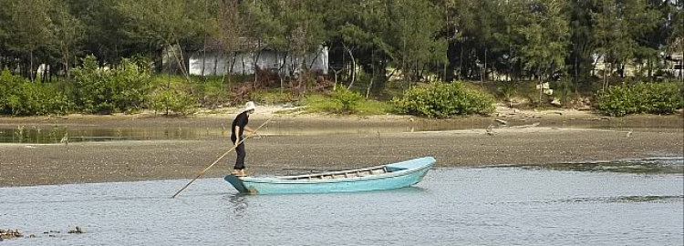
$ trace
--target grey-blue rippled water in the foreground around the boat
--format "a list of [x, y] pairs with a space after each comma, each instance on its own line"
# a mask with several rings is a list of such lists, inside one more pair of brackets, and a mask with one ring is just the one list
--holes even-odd
[[[273, 196], [237, 195], [223, 179], [199, 179], [171, 199], [187, 181], [0, 189], [0, 228], [36, 234], [0, 244], [684, 243], [682, 173], [444, 168], [408, 189]], [[76, 225], [86, 233], [66, 233]], [[61, 233], [42, 233], [50, 230]]]

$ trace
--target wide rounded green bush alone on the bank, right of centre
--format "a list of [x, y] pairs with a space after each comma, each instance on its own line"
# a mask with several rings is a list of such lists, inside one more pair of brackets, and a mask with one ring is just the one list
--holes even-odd
[[428, 118], [490, 114], [494, 110], [492, 95], [480, 89], [466, 87], [461, 82], [438, 82], [427, 87], [411, 87], [402, 97], [394, 97], [392, 102], [399, 113]]

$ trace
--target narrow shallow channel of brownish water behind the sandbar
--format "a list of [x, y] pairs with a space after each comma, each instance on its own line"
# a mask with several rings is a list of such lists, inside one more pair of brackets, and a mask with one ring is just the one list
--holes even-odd
[[[510, 126], [525, 126], [539, 123], [538, 120], [511, 120]], [[359, 123], [361, 124], [361, 123]], [[272, 123], [271, 125], [274, 125]], [[266, 126], [260, 132], [264, 135], [278, 136], [303, 136], [303, 135], [330, 135], [330, 134], [375, 134], [375, 133], [399, 133], [420, 131], [442, 131], [473, 128], [498, 127], [499, 123], [492, 120], [476, 120], [472, 122], [455, 121], [426, 121], [405, 122], [402, 124], [390, 124], [381, 126], [331, 127], [322, 125], [306, 126], [278, 126], [269, 128]], [[569, 127], [569, 128], [607, 128], [612, 130], [631, 131], [640, 130], [666, 130], [678, 132], [681, 129], [679, 120], [558, 120], [547, 121], [539, 124], [539, 127]], [[213, 139], [227, 138], [230, 136], [230, 126], [215, 126], [212, 128], [200, 127], [150, 127], [150, 128], [98, 128], [76, 126], [68, 128], [67, 125], [8, 125], [0, 124], [0, 143], [32, 143], [46, 144], [59, 143], [62, 139], [69, 142], [81, 141], [112, 141], [112, 140], [183, 140], [183, 139]]]

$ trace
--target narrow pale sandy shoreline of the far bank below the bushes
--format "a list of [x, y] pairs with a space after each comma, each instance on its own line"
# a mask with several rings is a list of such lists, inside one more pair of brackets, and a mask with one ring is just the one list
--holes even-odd
[[[297, 108], [297, 107], [295, 107]], [[598, 124], [606, 127], [625, 125], [627, 127], [670, 127], [684, 128], [684, 110], [680, 109], [674, 115], [628, 115], [625, 117], [609, 117], [597, 114], [593, 111], [576, 110], [567, 108], [555, 108], [546, 110], [516, 109], [497, 107], [496, 111], [488, 116], [457, 116], [454, 118], [421, 118], [409, 115], [327, 115], [327, 114], [279, 114], [278, 111], [288, 110], [284, 106], [259, 106], [254, 115], [254, 122], [263, 122], [268, 118], [275, 120], [305, 122], [312, 127], [318, 125], [325, 127], [349, 127], [358, 122], [364, 124], [379, 125], [386, 127], [419, 125], [419, 124], [462, 124], [463, 128], [488, 127], [493, 121], [494, 125], [502, 125], [501, 122], [511, 122], [513, 125], [524, 125], [526, 122], [569, 122], [570, 125], [586, 125], [578, 122], [617, 122], [616, 124]], [[239, 113], [239, 108], [222, 108], [220, 110], [203, 111], [191, 116], [163, 116], [153, 112], [141, 112], [138, 114], [114, 114], [114, 115], [82, 115], [71, 114], [67, 116], [31, 116], [14, 117], [0, 116], [0, 128], [26, 126], [69, 126], [76, 128], [159, 128], [159, 127], [192, 127], [206, 128], [216, 127], [230, 123], [234, 116]], [[408, 123], [407, 123], [408, 122]]]

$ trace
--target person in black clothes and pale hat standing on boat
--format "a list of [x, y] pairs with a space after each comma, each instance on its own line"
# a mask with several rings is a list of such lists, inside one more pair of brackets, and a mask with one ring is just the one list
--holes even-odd
[[249, 123], [249, 115], [254, 114], [254, 109], [256, 108], [256, 105], [254, 105], [254, 102], [247, 102], [244, 104], [243, 111], [233, 119], [233, 125], [231, 126], [231, 141], [233, 141], [233, 145], [235, 146], [235, 153], [237, 153], [237, 159], [235, 159], [235, 167], [233, 167], [233, 174], [234, 176], [245, 176], [244, 174], [244, 142], [241, 142], [244, 139], [244, 131], [251, 132], [252, 134], [256, 134], [256, 130], [250, 127], [247, 127], [247, 123]]

